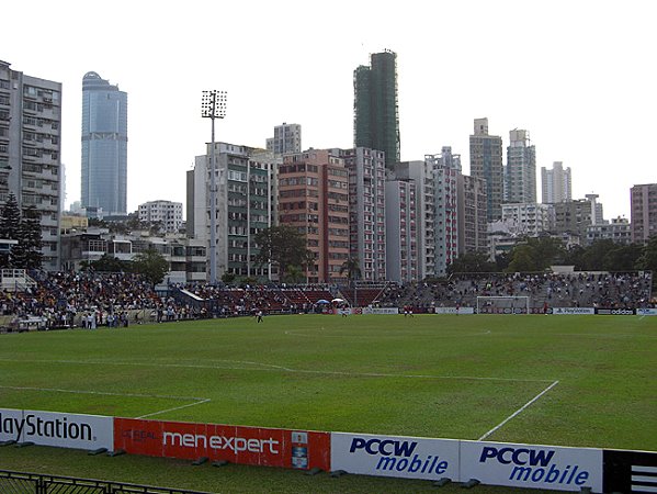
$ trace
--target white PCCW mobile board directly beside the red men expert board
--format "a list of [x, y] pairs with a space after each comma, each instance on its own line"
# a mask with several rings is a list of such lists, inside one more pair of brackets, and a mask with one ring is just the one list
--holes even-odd
[[458, 481], [458, 441], [331, 434], [331, 470], [377, 476]]

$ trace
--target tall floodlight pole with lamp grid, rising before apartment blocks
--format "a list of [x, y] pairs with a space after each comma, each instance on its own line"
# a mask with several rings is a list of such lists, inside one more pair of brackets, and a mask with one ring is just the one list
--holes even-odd
[[201, 116], [212, 120], [209, 149], [209, 282], [217, 283], [217, 181], [215, 161], [215, 119], [226, 116], [226, 91], [203, 91]]

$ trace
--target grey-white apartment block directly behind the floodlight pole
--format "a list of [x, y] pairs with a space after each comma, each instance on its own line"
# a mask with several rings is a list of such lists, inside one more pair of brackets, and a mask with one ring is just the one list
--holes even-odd
[[[212, 144], [207, 144], [207, 154], [196, 156], [194, 170], [188, 175], [188, 236], [203, 240], [207, 252], [212, 238], [211, 156]], [[270, 280], [269, 267], [253, 261], [259, 252], [253, 238], [274, 224], [273, 190], [280, 159], [263, 149], [215, 143], [215, 160], [217, 276]]]

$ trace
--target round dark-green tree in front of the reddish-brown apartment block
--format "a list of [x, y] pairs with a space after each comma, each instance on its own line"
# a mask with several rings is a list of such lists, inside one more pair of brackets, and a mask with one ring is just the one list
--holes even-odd
[[285, 279], [291, 266], [299, 269], [308, 265], [313, 252], [306, 248], [306, 238], [294, 227], [287, 225], [264, 228], [256, 235], [260, 251], [254, 257], [259, 265], [269, 262], [279, 265], [279, 278]]

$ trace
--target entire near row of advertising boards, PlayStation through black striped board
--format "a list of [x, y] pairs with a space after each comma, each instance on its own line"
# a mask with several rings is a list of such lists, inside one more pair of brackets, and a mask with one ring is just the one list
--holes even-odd
[[0, 408], [0, 446], [581, 492], [657, 492], [657, 452], [321, 433]]

